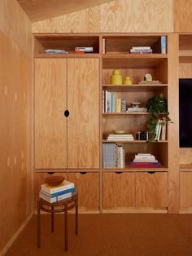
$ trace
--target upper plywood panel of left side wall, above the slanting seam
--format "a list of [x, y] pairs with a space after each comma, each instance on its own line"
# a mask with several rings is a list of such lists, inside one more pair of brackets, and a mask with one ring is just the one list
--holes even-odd
[[32, 54], [32, 24], [15, 0], [0, 1], [0, 30], [15, 41], [25, 54]]

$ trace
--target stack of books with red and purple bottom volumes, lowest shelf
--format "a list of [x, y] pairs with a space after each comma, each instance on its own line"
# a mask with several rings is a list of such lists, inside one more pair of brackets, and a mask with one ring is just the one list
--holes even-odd
[[153, 168], [160, 167], [161, 164], [151, 153], [137, 153], [130, 163], [131, 167]]

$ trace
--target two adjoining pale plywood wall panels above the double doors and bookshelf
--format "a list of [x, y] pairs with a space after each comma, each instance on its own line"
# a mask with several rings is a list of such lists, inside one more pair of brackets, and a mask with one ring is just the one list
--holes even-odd
[[173, 32], [173, 0], [115, 0], [33, 23], [33, 33]]

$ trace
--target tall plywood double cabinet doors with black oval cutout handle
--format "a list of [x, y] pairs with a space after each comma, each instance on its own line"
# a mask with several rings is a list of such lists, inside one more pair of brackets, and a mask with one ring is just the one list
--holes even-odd
[[35, 60], [35, 169], [99, 168], [98, 59]]

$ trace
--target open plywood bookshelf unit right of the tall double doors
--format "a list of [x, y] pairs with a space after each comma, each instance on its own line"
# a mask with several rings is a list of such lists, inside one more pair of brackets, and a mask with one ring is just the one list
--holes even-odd
[[[111, 95], [111, 103], [114, 104], [113, 97], [123, 99], [126, 102], [126, 108], [130, 108], [131, 103], [139, 102], [141, 112], [129, 113], [102, 106], [102, 143], [116, 143], [118, 147], [123, 148], [124, 167], [122, 170], [130, 170], [130, 162], [137, 152], [152, 153], [161, 162], [161, 167], [168, 170], [168, 132], [166, 138], [155, 142], [149, 142], [147, 139], [137, 140], [138, 131], [145, 131], [149, 120], [149, 113], [143, 111], [148, 99], [155, 95], [164, 94], [168, 99], [168, 54], [167, 43], [162, 50], [162, 35], [103, 35], [103, 71], [102, 71], [102, 95]], [[131, 53], [133, 46], [151, 49], [152, 53]], [[143, 48], [142, 48], [143, 49]], [[162, 53], [164, 52], [164, 53]], [[129, 76], [132, 84], [111, 85], [110, 77], [112, 71], [118, 69], [122, 77]], [[150, 73], [153, 80], [158, 83], [139, 84], [146, 73]], [[110, 96], [109, 96], [110, 97]], [[102, 99], [102, 104], [106, 99]], [[107, 103], [106, 103], [107, 104]], [[125, 134], [133, 135], [133, 140], [108, 141], [107, 134], [113, 134], [114, 130], [124, 130]], [[107, 152], [110, 154], [110, 152]], [[118, 161], [118, 160], [117, 160]], [[116, 169], [116, 168], [115, 168]], [[156, 168], [159, 169], [159, 168]], [[105, 170], [105, 168], [104, 168]], [[146, 171], [141, 168], [140, 171]]]

